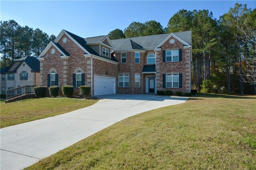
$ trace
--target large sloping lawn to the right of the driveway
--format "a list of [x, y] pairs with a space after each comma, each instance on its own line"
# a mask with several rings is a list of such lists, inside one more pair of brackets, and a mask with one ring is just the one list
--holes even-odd
[[256, 169], [256, 96], [203, 95], [121, 121], [27, 169]]

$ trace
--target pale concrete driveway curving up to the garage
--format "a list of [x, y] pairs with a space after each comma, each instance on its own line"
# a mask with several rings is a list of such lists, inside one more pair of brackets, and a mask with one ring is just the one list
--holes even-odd
[[22, 169], [128, 117], [188, 97], [104, 95], [82, 109], [0, 129], [0, 169]]

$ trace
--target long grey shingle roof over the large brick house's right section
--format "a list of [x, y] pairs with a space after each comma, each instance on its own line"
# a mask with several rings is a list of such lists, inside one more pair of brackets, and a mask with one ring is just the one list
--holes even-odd
[[[173, 34], [175, 34], [185, 42], [189, 43], [190, 45], [192, 44], [191, 31], [176, 32]], [[162, 42], [169, 35], [170, 34], [158, 34], [158, 35], [152, 35], [152, 36], [124, 38], [124, 39], [118, 39], [118, 40], [111, 40], [111, 42], [114, 46], [114, 51], [118, 47], [120, 47], [120, 45], [126, 43], [129, 39], [137, 43], [138, 45], [140, 45], [143, 49], [147, 49], [147, 48], [155, 48], [160, 42]]]

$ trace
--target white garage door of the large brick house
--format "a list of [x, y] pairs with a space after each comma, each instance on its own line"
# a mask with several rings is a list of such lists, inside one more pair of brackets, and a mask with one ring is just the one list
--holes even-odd
[[111, 77], [94, 76], [94, 95], [116, 94], [116, 79]]

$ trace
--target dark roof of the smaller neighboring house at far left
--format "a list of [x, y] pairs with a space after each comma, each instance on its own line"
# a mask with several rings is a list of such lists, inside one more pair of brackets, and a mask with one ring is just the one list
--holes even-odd
[[16, 73], [20, 65], [25, 62], [32, 72], [40, 72], [40, 61], [36, 57], [22, 57], [14, 60], [11, 65], [6, 69], [6, 73]]

